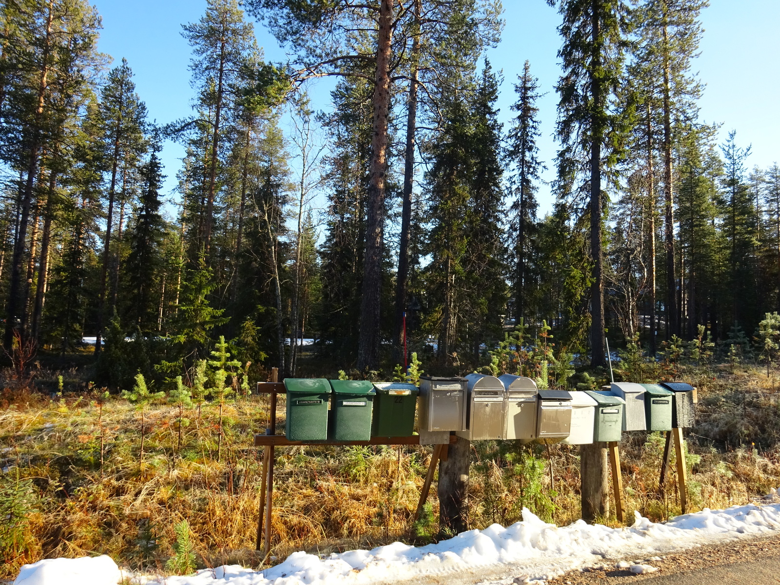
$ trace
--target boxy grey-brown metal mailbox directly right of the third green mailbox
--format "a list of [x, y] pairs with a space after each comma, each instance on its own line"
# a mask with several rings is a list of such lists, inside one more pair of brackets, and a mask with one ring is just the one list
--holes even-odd
[[420, 377], [420, 431], [468, 431], [466, 425], [466, 378]]

